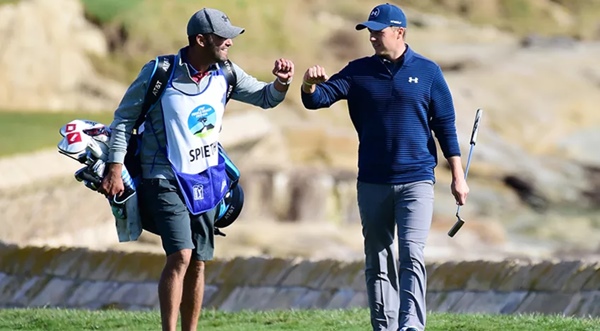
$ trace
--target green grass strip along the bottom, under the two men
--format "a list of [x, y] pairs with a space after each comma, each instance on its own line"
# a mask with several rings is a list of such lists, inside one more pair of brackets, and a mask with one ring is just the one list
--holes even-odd
[[[593, 331], [600, 320], [539, 315], [430, 314], [427, 331]], [[284, 310], [267, 312], [203, 312], [198, 327], [215, 331], [369, 330], [368, 311]], [[160, 330], [157, 312], [57, 309], [0, 310], [0, 330]]]

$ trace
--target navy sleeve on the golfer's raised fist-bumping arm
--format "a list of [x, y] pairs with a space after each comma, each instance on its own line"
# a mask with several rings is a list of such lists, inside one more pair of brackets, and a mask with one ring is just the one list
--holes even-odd
[[350, 91], [350, 69], [346, 66], [324, 83], [315, 86], [315, 92], [305, 93], [301, 90], [302, 104], [306, 109], [326, 108], [339, 100], [348, 98]]

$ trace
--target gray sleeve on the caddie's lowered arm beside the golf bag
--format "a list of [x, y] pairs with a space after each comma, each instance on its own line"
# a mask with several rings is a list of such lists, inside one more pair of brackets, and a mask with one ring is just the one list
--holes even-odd
[[142, 67], [137, 78], [129, 85], [115, 110], [114, 119], [110, 124], [110, 147], [107, 162], [123, 163], [125, 161], [127, 143], [133, 126], [142, 113], [142, 104], [144, 103], [148, 81], [154, 71], [154, 63], [155, 60], [152, 60]]

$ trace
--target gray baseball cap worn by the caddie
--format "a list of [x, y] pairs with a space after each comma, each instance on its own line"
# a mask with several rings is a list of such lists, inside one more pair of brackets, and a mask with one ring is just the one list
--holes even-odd
[[221, 38], [233, 39], [244, 33], [244, 29], [231, 25], [229, 17], [224, 12], [203, 8], [190, 18], [187, 26], [188, 36], [214, 33]]

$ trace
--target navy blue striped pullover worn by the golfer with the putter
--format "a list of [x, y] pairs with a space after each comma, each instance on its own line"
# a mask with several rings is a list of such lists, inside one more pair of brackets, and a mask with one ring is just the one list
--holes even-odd
[[410, 47], [395, 74], [374, 55], [351, 61], [317, 84], [314, 93], [302, 92], [307, 109], [329, 107], [343, 99], [358, 133], [359, 181], [435, 181], [433, 133], [444, 157], [460, 156], [454, 104], [442, 70]]

